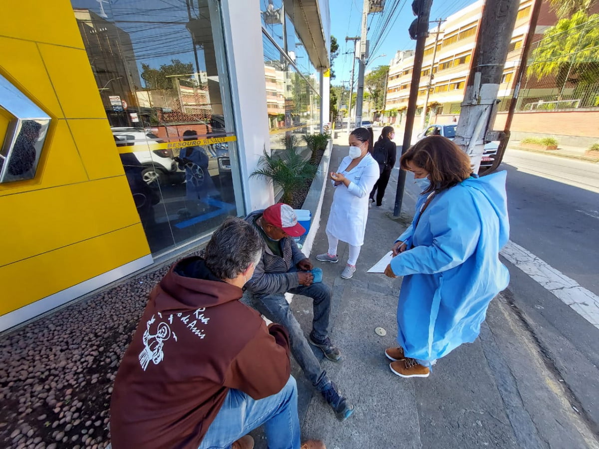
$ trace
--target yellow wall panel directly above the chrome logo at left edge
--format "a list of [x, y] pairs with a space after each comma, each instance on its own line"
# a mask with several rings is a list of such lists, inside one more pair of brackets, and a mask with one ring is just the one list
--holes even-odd
[[0, 37], [0, 54], [2, 75], [50, 116], [64, 117], [37, 44]]

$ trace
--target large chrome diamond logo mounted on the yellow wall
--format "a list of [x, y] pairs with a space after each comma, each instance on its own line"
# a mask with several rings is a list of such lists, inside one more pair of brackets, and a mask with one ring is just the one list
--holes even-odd
[[0, 148], [0, 183], [33, 179], [52, 119], [2, 75], [0, 114], [9, 118]]

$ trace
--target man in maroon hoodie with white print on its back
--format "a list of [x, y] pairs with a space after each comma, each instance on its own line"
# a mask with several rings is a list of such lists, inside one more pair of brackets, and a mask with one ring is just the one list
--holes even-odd
[[114, 382], [114, 449], [252, 448], [262, 424], [268, 447], [299, 448], [287, 332], [238, 301], [261, 256], [253, 227], [230, 217], [150, 293]]

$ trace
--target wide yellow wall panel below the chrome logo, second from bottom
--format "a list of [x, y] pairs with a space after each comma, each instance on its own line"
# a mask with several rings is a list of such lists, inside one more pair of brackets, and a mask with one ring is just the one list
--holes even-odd
[[0, 196], [0, 210], [0, 267], [140, 221], [125, 175]]

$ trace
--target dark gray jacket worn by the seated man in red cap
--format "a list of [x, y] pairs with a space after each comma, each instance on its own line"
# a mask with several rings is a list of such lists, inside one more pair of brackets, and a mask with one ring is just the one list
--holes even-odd
[[[259, 210], [250, 213], [246, 217], [246, 222], [256, 227], [254, 220], [256, 217], [261, 216], [263, 212], [264, 210]], [[295, 265], [306, 257], [304, 253], [299, 251], [293, 237], [282, 239], [281, 247], [283, 257], [273, 254], [268, 246], [265, 247], [262, 259], [256, 265], [252, 278], [246, 283], [246, 289], [253, 295], [285, 293], [299, 286]]]

